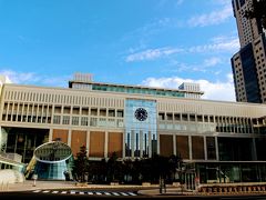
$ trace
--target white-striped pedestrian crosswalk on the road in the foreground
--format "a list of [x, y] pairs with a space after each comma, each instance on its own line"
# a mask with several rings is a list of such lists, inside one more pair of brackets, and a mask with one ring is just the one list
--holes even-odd
[[132, 191], [85, 191], [85, 190], [33, 190], [34, 193], [80, 194], [80, 196], [137, 196]]

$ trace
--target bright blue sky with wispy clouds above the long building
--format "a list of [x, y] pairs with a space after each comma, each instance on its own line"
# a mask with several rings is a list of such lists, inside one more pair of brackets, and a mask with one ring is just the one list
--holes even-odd
[[177, 88], [235, 101], [231, 57], [239, 49], [231, 0], [0, 0], [0, 74], [68, 87], [98, 82]]

